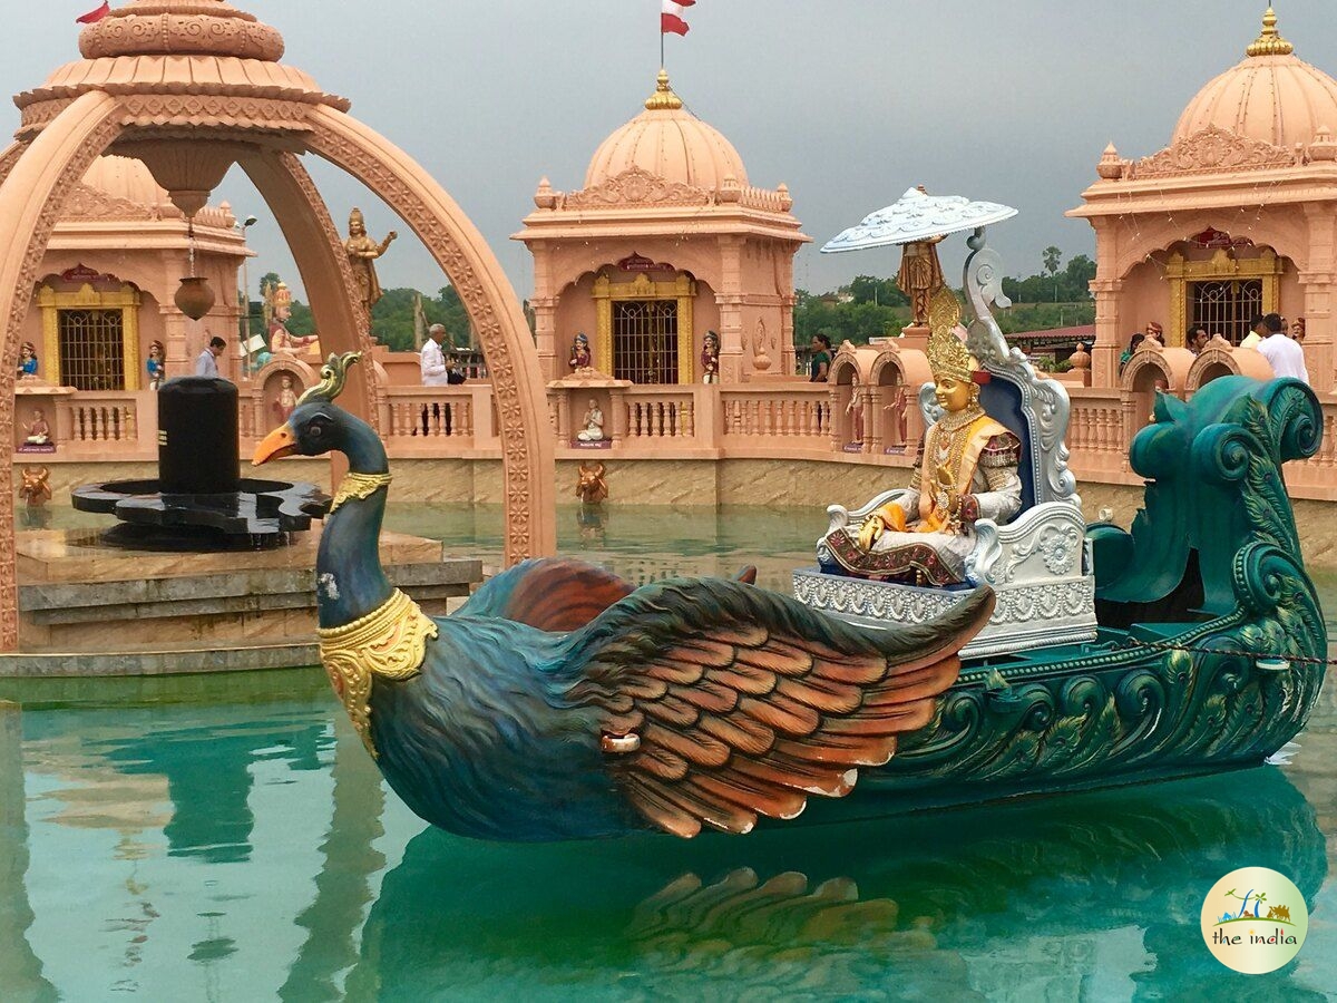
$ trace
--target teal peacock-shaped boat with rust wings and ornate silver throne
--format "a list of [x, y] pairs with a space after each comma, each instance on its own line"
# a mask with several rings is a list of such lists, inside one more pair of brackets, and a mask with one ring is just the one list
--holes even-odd
[[[1297, 734], [1326, 635], [1282, 464], [1318, 448], [1313, 393], [1226, 377], [1159, 397], [1131, 452], [1144, 510], [1131, 532], [1087, 527], [1067, 395], [1008, 350], [996, 255], [981, 229], [969, 245], [980, 401], [1021, 487], [1012, 518], [973, 522], [951, 586], [840, 564], [830, 540], [888, 492], [832, 508], [794, 596], [540, 559], [433, 619], [381, 568], [386, 453], [334, 404], [357, 356], [330, 357], [255, 463], [348, 457], [317, 559], [321, 661], [409, 808], [491, 840], [745, 833], [810, 801], [808, 820], [874, 816], [1251, 766]], [[932, 385], [921, 404], [939, 416]]]

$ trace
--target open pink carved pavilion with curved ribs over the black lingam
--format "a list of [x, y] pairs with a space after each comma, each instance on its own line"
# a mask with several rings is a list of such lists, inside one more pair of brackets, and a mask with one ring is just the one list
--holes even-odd
[[[143, 31], [127, 31], [126, 19]], [[112, 147], [143, 159], [187, 215], [198, 211], [233, 163], [242, 163], [293, 250], [325, 348], [368, 352], [362, 310], [350, 298], [356, 284], [348, 258], [291, 152], [303, 150], [377, 193], [459, 290], [479, 332], [500, 413], [505, 556], [515, 562], [552, 552], [555, 457], [552, 437], [539, 433], [547, 427], [547, 404], [533, 340], [495, 255], [441, 186], [393, 143], [352, 119], [348, 102], [279, 64], [278, 32], [229, 5], [166, 19], [154, 16], [151, 3], [132, 0], [86, 28], [80, 48], [86, 60], [63, 67], [59, 86], [20, 96], [20, 139], [0, 155], [0, 221], [12, 235], [12, 251], [0, 259], [5, 322], [0, 440], [13, 435], [23, 321], [52, 227], [72, 186], [94, 158]], [[127, 74], [112, 95], [98, 63], [118, 56], [126, 58]], [[365, 372], [356, 376], [344, 403], [373, 417], [374, 393]], [[12, 479], [5, 464], [0, 487], [11, 496]], [[0, 520], [0, 649], [16, 645], [13, 524]]]

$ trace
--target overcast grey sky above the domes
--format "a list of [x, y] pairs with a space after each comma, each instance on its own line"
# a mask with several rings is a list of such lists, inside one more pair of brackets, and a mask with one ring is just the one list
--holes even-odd
[[[532, 210], [539, 178], [578, 189], [599, 142], [640, 111], [659, 64], [658, 0], [234, 3], [282, 31], [285, 62], [352, 99], [353, 115], [444, 185], [521, 297], [529, 255], [508, 238]], [[78, 58], [74, 19], [96, 1], [23, 7], [7, 20], [0, 62], [0, 90], [9, 94]], [[674, 88], [734, 143], [751, 183], [789, 185], [814, 238], [798, 258], [800, 286], [821, 292], [856, 274], [894, 273], [889, 250], [820, 255], [817, 247], [912, 185], [1017, 207], [992, 242], [1011, 273], [1031, 274], [1050, 243], [1067, 255], [1092, 251], [1090, 227], [1063, 210], [1080, 202], [1104, 144], [1114, 140], [1124, 156], [1163, 147], [1198, 88], [1243, 56], [1265, 7], [699, 0], [691, 33], [667, 39], [667, 62]], [[1337, 71], [1332, 7], [1277, 3], [1297, 55], [1329, 72]], [[17, 111], [9, 120], [17, 124]], [[400, 231], [380, 266], [384, 285], [443, 285], [389, 210], [326, 164], [310, 167], [341, 229], [360, 205], [373, 237]], [[297, 285], [278, 229], [239, 170], [218, 198], [261, 219], [251, 229], [253, 281], [277, 270]], [[956, 251], [949, 261], [959, 262]]]

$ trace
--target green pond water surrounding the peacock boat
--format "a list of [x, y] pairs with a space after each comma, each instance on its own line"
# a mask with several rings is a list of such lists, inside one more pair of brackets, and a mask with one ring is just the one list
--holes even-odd
[[[787, 587], [818, 511], [563, 511], [648, 580]], [[499, 510], [392, 528], [496, 559]], [[1318, 576], [1333, 625], [1337, 576]], [[683, 843], [456, 839], [380, 781], [324, 673], [4, 682], [0, 1000], [1334, 999], [1337, 698], [1210, 778]], [[857, 794], [856, 794], [857, 796]], [[1286, 873], [1298, 958], [1238, 975], [1207, 889]]]

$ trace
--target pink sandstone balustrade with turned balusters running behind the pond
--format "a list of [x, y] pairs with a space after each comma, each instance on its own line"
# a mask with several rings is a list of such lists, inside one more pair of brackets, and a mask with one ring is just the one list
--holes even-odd
[[[844, 396], [842, 396], [844, 392]], [[852, 449], [841, 400], [849, 388], [802, 381], [730, 385], [620, 385], [602, 403], [608, 421], [604, 447], [628, 459], [796, 459], [836, 460], [861, 465], [905, 467], [915, 451]], [[882, 415], [890, 388], [869, 388], [865, 409], [866, 441], [877, 444], [888, 432]], [[1067, 445], [1079, 481], [1136, 484], [1128, 467], [1134, 436], [1150, 421], [1152, 395], [1127, 388], [1070, 386], [1072, 401]], [[563, 395], [574, 395], [564, 399]], [[586, 405], [588, 391], [550, 391], [550, 412], [571, 415]], [[1337, 397], [1324, 395], [1324, 443], [1320, 452], [1288, 464], [1286, 481], [1297, 497], [1337, 500]], [[32, 401], [25, 401], [31, 405]], [[146, 460], [156, 455], [156, 400], [138, 393], [80, 392], [51, 403], [55, 413], [53, 459]], [[51, 412], [48, 412], [49, 415]], [[243, 386], [241, 428], [243, 455], [273, 425], [258, 395]], [[380, 397], [378, 424], [392, 456], [473, 457], [500, 456], [496, 405], [485, 382], [459, 386], [388, 386]], [[570, 425], [570, 421], [567, 423]], [[554, 417], [548, 435], [558, 437], [559, 456], [576, 451], [562, 423]], [[574, 425], [571, 427], [574, 428]], [[919, 429], [910, 429], [917, 440]], [[31, 461], [31, 459], [24, 459]]]

